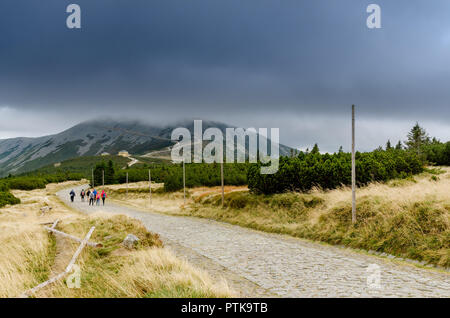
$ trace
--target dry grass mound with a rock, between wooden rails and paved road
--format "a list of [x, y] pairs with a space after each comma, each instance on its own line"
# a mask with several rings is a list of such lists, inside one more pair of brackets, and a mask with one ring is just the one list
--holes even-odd
[[[97, 213], [64, 222], [62, 230], [77, 236], [91, 227], [92, 241], [99, 249], [87, 249], [78, 264], [81, 288], [67, 288], [59, 282], [38, 297], [230, 297], [234, 293], [226, 281], [214, 282], [209, 275], [161, 248], [158, 236], [126, 216]], [[140, 241], [136, 250], [122, 247], [128, 233]], [[72, 244], [74, 251], [76, 244]]]

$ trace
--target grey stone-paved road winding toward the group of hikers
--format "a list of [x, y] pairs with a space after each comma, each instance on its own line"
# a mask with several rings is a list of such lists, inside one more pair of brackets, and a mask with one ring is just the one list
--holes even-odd
[[[79, 198], [70, 203], [69, 191], [57, 194], [69, 206], [85, 213], [103, 211], [136, 218], [163, 241], [178, 246], [177, 254], [185, 254], [179, 248], [185, 247], [207, 259], [210, 266], [224, 268], [223, 273], [242, 277], [252, 286], [238, 286], [243, 296], [450, 297], [449, 273], [212, 220], [143, 212], [110, 202], [90, 207]], [[196, 258], [191, 259], [195, 263]]]

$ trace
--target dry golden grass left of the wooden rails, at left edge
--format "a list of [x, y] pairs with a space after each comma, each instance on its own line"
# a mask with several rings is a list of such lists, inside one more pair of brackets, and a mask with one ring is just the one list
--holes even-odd
[[41, 207], [58, 204], [46, 189], [13, 194], [22, 203], [0, 209], [0, 297], [18, 296], [48, 279], [55, 242], [39, 223], [67, 217], [69, 212], [61, 207], [41, 217]]

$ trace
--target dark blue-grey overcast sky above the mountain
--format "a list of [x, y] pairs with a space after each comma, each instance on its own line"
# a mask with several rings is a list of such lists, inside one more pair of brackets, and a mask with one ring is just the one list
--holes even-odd
[[356, 104], [359, 150], [416, 121], [449, 140], [449, 16], [448, 0], [1, 0], [0, 138], [202, 118], [348, 150]]

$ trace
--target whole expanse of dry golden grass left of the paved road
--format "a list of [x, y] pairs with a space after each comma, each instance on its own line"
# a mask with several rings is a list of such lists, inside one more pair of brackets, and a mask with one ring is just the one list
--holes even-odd
[[[86, 247], [77, 264], [81, 288], [70, 289], [60, 281], [35, 297], [230, 297], [235, 295], [224, 280], [178, 259], [162, 247], [158, 236], [126, 216], [85, 216], [67, 208], [55, 192], [80, 184], [49, 184], [46, 189], [13, 191], [22, 203], [0, 209], [0, 297], [16, 297], [25, 290], [62, 272], [78, 243], [49, 235], [39, 223], [62, 220], [58, 229], [83, 237], [91, 226], [91, 241], [103, 248]], [[53, 209], [41, 216], [40, 208]], [[135, 250], [121, 242], [128, 233], [139, 237]]]

